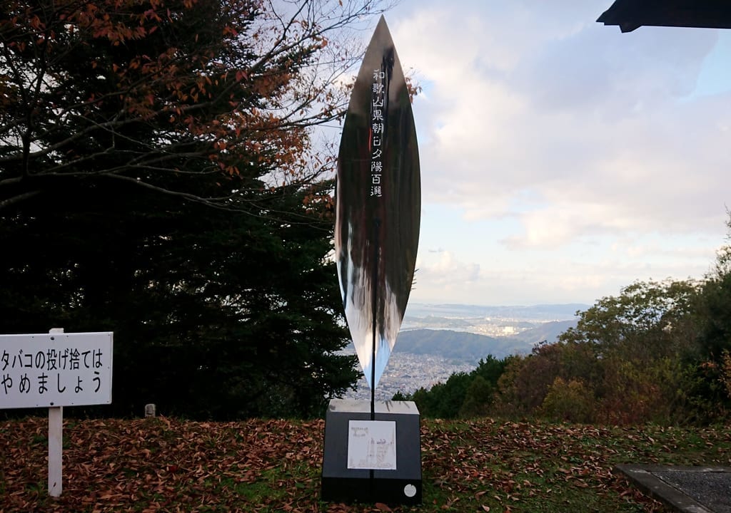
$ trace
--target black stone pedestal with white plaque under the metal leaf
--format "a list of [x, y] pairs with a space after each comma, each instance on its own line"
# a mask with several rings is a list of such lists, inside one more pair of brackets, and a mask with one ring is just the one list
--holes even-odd
[[419, 410], [413, 401], [333, 399], [325, 417], [322, 500], [421, 504]]

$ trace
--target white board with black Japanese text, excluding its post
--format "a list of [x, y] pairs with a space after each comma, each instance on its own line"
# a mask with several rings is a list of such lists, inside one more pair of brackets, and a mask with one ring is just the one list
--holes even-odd
[[110, 404], [112, 332], [0, 335], [0, 409]]

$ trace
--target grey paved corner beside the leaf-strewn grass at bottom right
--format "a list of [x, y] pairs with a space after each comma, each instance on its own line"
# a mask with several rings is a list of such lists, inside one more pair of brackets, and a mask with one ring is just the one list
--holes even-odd
[[731, 513], [731, 467], [618, 465], [640, 490], [681, 513]]

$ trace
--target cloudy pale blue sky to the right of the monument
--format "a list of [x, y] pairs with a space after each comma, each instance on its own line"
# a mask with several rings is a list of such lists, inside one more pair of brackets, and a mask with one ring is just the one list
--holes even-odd
[[593, 304], [711, 269], [731, 207], [731, 31], [621, 34], [596, 23], [611, 3], [386, 13], [423, 87], [410, 301]]

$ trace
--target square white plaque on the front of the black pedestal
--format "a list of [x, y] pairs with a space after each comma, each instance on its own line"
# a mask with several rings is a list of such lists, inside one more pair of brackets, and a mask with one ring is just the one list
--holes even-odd
[[349, 420], [348, 468], [395, 470], [395, 421]]

